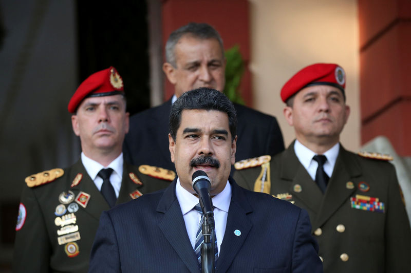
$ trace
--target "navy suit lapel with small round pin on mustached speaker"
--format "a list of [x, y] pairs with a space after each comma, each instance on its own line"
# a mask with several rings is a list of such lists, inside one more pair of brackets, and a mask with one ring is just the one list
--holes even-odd
[[[221, 243], [220, 256], [217, 260], [217, 271], [226, 272], [232, 264], [241, 246], [244, 244], [252, 223], [248, 220], [247, 214], [252, 212], [244, 192], [230, 177], [232, 186], [231, 202], [227, 217], [227, 226], [224, 238]], [[236, 236], [234, 230], [240, 230], [241, 235]]]

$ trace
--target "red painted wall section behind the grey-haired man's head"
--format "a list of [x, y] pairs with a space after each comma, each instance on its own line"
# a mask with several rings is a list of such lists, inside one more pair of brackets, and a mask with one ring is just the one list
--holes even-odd
[[[224, 48], [238, 44], [245, 59], [246, 71], [241, 80], [242, 98], [251, 106], [250, 23], [247, 0], [166, 0], [162, 2], [163, 48], [170, 33], [190, 22], [208, 23], [221, 35]], [[164, 57], [164, 56], [163, 56]], [[164, 99], [174, 94], [174, 87], [164, 77]]]

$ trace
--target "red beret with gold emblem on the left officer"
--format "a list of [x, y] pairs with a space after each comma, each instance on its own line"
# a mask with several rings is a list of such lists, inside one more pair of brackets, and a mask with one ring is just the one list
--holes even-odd
[[91, 74], [81, 83], [68, 103], [68, 112], [75, 113], [86, 97], [100, 97], [123, 94], [123, 80], [114, 67]]

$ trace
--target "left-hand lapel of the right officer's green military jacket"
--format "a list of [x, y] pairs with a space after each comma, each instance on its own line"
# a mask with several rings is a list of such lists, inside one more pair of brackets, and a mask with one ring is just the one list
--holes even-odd
[[[313, 212], [319, 211], [323, 193], [295, 155], [294, 142], [290, 144], [281, 156], [280, 177], [284, 180], [291, 181], [289, 192], [292, 193], [294, 197], [300, 199], [301, 202], [312, 209]], [[301, 186], [300, 192], [295, 191], [294, 186], [296, 184]]]

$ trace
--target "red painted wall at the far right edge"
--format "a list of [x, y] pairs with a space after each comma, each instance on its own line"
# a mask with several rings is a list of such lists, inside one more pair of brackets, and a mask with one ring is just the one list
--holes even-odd
[[411, 156], [411, 1], [359, 0], [361, 141]]

